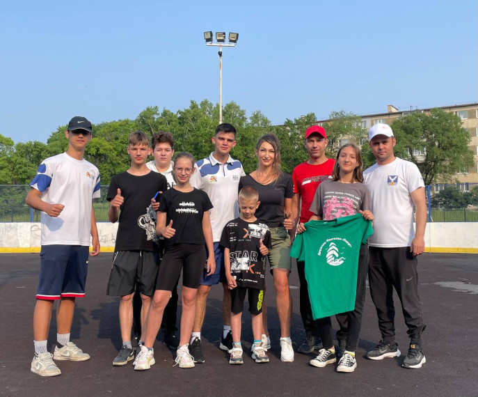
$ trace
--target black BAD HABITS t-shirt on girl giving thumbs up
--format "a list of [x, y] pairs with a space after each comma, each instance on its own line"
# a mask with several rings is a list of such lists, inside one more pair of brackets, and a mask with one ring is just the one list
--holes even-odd
[[159, 204], [161, 212], [166, 212], [166, 226], [173, 219], [176, 230], [172, 238], [165, 238], [166, 245], [205, 244], [202, 233], [202, 216], [212, 208], [207, 193], [194, 188], [191, 192], [180, 192], [172, 187], [161, 194]]

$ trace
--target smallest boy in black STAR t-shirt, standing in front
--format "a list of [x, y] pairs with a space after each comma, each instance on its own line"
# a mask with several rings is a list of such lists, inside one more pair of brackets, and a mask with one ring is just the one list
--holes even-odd
[[266, 256], [271, 248], [271, 232], [255, 217], [259, 207], [259, 193], [246, 186], [239, 192], [239, 218], [229, 221], [221, 236], [224, 247], [225, 277], [231, 290], [231, 328], [233, 348], [229, 364], [244, 364], [241, 347], [241, 316], [246, 293], [253, 319], [253, 359], [269, 362], [261, 344], [262, 299], [264, 296]]

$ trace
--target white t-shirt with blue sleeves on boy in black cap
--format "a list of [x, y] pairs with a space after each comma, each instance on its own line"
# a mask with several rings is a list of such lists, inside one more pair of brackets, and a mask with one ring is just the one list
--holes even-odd
[[90, 245], [92, 199], [99, 197], [99, 171], [86, 159], [62, 153], [48, 157], [30, 183], [50, 204], [63, 204], [58, 217], [41, 212], [42, 245]]

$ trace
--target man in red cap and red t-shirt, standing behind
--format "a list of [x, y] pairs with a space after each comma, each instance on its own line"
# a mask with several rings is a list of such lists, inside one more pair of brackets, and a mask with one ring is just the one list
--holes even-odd
[[[334, 159], [328, 159], [325, 154], [327, 147], [326, 130], [319, 125], [312, 125], [305, 131], [305, 148], [309, 154], [309, 159], [298, 164], [292, 172], [292, 181], [294, 182], [294, 198], [292, 198], [292, 217], [297, 224], [298, 216], [300, 222], [307, 222], [314, 214], [310, 212], [310, 203], [314, 198], [315, 191], [320, 183], [330, 178]], [[295, 230], [295, 229], [294, 229]], [[292, 233], [294, 235], [295, 233]], [[312, 309], [305, 280], [305, 263], [297, 261], [297, 272], [301, 282], [301, 317], [305, 328], [305, 341], [298, 348], [299, 353], [310, 353], [322, 347], [319, 330], [312, 318]], [[339, 337], [337, 335], [337, 337]]]

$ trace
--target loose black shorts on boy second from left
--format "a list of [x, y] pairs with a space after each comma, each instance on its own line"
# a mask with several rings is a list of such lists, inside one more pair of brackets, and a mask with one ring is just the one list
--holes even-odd
[[106, 295], [126, 296], [137, 289], [148, 297], [154, 294], [159, 255], [152, 251], [116, 251]]

